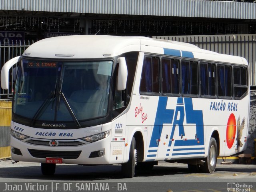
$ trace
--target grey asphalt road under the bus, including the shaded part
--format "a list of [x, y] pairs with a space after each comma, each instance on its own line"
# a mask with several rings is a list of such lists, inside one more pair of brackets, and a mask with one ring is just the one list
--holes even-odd
[[[16, 184], [16, 185], [15, 185]], [[31, 185], [29, 185], [31, 184]], [[36, 184], [41, 184], [36, 188]], [[0, 161], [0, 191], [169, 191], [256, 192], [256, 165], [220, 165], [212, 174], [191, 173], [186, 164], [159, 162], [150, 171], [123, 178], [120, 165], [58, 164], [54, 176], [43, 176], [39, 163]], [[46, 188], [46, 185], [48, 188]], [[44, 186], [44, 188], [43, 188]], [[86, 188], [87, 187], [87, 188]], [[17, 188], [18, 189], [18, 188]]]

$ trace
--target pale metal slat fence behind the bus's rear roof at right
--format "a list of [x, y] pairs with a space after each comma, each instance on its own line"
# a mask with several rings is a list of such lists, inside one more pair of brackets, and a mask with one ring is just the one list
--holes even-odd
[[250, 85], [256, 85], [256, 34], [202, 35], [202, 36], [154, 36], [153, 38], [188, 42], [202, 49], [242, 56], [249, 64]]

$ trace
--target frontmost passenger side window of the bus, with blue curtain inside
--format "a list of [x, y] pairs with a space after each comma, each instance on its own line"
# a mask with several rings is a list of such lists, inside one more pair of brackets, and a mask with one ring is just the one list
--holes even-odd
[[159, 59], [156, 57], [146, 56], [144, 58], [140, 92], [160, 93]]

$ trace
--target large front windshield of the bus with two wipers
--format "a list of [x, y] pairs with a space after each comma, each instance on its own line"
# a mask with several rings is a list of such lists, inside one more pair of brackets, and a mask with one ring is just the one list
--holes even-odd
[[112, 66], [112, 61], [22, 60], [13, 112], [32, 122], [106, 116]]

